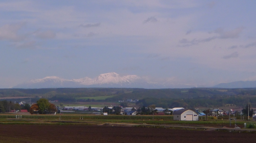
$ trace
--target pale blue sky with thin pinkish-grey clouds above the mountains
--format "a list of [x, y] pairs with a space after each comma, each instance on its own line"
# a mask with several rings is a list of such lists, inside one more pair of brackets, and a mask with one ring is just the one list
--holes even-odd
[[255, 5], [1, 0], [0, 88], [110, 72], [198, 87], [256, 80]]

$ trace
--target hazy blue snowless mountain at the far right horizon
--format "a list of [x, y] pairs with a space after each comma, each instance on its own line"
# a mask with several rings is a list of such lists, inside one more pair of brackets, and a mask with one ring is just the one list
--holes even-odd
[[215, 88], [255, 88], [256, 81], [234, 81], [231, 83], [221, 83], [213, 87]]

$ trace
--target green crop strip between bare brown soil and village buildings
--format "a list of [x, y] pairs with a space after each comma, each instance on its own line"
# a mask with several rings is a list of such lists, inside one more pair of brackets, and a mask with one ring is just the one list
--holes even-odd
[[[208, 121], [176, 121], [173, 115], [85, 115], [85, 114], [57, 114], [57, 115], [35, 115], [24, 114], [22, 118], [16, 119], [15, 114], [0, 114], [0, 124], [109, 124], [109, 123], [129, 123], [129, 124], [153, 124], [153, 125], [186, 125], [186, 126], [227, 126], [230, 127], [229, 120], [209, 119]], [[231, 121], [231, 126], [235, 124], [243, 128], [247, 123], [247, 128], [256, 128], [256, 123], [246, 120]]]

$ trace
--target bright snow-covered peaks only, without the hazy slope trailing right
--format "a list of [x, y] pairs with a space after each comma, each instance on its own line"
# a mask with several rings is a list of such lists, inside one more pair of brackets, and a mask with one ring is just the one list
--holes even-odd
[[117, 73], [101, 74], [95, 78], [84, 77], [72, 80], [49, 76], [42, 79], [29, 80], [13, 88], [136, 87], [136, 82], [139, 79], [140, 77], [136, 75], [120, 76]]

